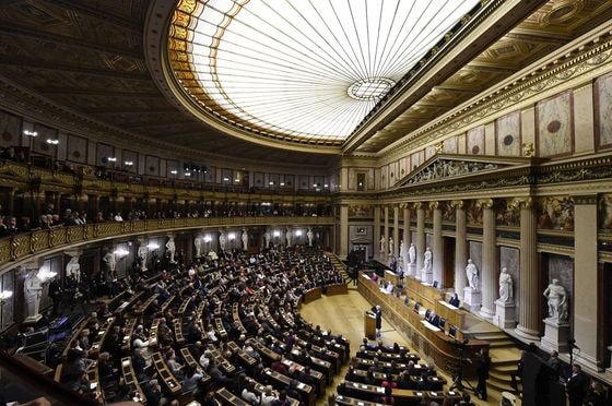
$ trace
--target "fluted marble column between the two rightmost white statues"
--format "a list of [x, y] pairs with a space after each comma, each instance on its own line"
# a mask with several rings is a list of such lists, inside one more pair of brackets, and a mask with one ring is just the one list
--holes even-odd
[[520, 211], [520, 270], [518, 325], [515, 332], [528, 341], [540, 341], [540, 277], [538, 270], [537, 214], [531, 198], [517, 198], [511, 206]]

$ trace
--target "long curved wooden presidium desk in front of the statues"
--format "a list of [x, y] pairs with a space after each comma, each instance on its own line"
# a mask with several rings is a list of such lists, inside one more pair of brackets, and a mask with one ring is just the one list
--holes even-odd
[[[481, 348], [489, 347], [487, 342], [480, 339], [470, 339], [461, 346], [461, 341], [425, 322], [422, 312], [414, 311], [414, 302], [411, 301], [410, 306], [407, 306], [403, 299], [381, 292], [380, 286], [363, 272], [360, 272], [358, 291], [372, 304], [380, 306], [382, 317], [409, 338], [414, 349], [431, 358], [438, 368], [451, 375], [457, 373], [461, 365], [460, 347], [463, 347], [463, 357], [470, 359], [474, 359], [475, 353]], [[466, 375], [473, 377], [478, 362], [464, 362], [463, 366]]]

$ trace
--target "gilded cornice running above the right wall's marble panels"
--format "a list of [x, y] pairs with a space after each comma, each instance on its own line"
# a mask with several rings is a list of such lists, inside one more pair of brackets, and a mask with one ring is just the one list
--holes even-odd
[[604, 28], [600, 27], [596, 34], [569, 44], [567, 49], [562, 48], [563, 55], [550, 55], [548, 62], [543, 61], [529, 71], [519, 72], [487, 89], [480, 98], [467, 101], [435, 122], [407, 134], [400, 141], [385, 147], [377, 156], [382, 163], [407, 156], [414, 150], [454, 132], [467, 131], [474, 121], [482, 121], [520, 101], [537, 97], [544, 91], [591, 72], [599, 75], [596, 70], [610, 64], [612, 55], [612, 34], [610, 29]]

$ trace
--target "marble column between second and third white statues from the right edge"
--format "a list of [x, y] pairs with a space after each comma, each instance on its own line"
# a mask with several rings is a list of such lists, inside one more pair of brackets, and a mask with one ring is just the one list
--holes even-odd
[[493, 208], [493, 199], [479, 200], [476, 204], [482, 208], [482, 307], [480, 315], [493, 320], [495, 298], [497, 297], [495, 210]]

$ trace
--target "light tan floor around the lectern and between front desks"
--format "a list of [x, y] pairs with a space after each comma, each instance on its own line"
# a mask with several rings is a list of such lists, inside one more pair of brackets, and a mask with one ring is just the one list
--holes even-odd
[[[351, 341], [351, 353], [354, 356], [358, 348], [357, 343], [361, 343], [364, 337], [363, 313], [369, 308], [372, 308], [369, 302], [353, 288], [349, 290], [349, 295], [323, 296], [314, 302], [305, 304], [302, 307], [301, 313], [304, 319], [320, 325], [323, 330], [331, 329], [333, 333], [342, 333], [342, 335]], [[410, 347], [414, 351], [411, 343], [407, 342], [385, 320], [382, 320], [382, 342], [391, 345], [397, 342], [400, 345]], [[326, 395], [319, 399], [318, 405], [326, 405], [328, 396], [336, 393], [336, 386], [344, 379], [348, 368], [346, 363], [336, 377], [333, 383], [328, 386]], [[440, 374], [450, 382], [449, 375]], [[491, 390], [489, 391], [487, 402], [479, 401], [475, 396], [472, 396], [472, 401], [476, 405], [498, 405], [499, 398], [501, 394]]]

